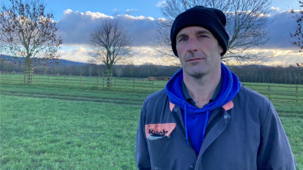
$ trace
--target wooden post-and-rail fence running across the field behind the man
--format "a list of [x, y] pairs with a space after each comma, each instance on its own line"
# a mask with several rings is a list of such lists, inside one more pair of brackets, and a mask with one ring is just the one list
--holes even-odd
[[[32, 83], [41, 85], [69, 85], [69, 86], [90, 86], [97, 88], [117, 88], [117, 89], [141, 89], [141, 90], [160, 90], [165, 88], [166, 81], [159, 83], [159, 81], [153, 80], [137, 80], [137, 79], [117, 79], [108, 77], [82, 77], [82, 76], [44, 76], [33, 75], [31, 79], [24, 81], [22, 74], [1, 74], [0, 82], [22, 84]], [[27, 78], [27, 77], [26, 77]], [[242, 84], [252, 90], [265, 95], [269, 99], [282, 99], [282, 100], [294, 100], [303, 101], [303, 86], [280, 86], [280, 85], [253, 85]]]

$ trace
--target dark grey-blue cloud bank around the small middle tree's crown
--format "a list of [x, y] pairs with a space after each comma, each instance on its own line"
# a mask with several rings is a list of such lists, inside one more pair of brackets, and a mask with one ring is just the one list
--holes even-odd
[[[63, 36], [63, 45], [87, 45], [87, 33], [105, 18], [113, 18], [102, 13], [74, 12], [66, 10], [58, 22], [58, 33]], [[151, 46], [150, 39], [156, 34], [156, 20], [147, 17], [133, 17], [118, 15], [119, 19], [129, 33], [133, 36], [133, 46]]]

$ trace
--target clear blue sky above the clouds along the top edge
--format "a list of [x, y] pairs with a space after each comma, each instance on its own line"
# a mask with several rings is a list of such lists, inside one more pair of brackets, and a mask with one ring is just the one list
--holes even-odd
[[[9, 2], [8, 0], [6, 0]], [[4, 1], [5, 3], [7, 3]], [[45, 0], [47, 6], [56, 11], [55, 18], [60, 20], [63, 11], [70, 9], [72, 11], [79, 11], [79, 12], [100, 12], [105, 15], [113, 15], [119, 12], [120, 15], [125, 14], [127, 9], [133, 9], [131, 12], [132, 16], [146, 16], [157, 18], [161, 17], [160, 8], [157, 6], [159, 4], [159, 0]], [[287, 10], [288, 7], [298, 7], [298, 1], [296, 0], [273, 0], [272, 1], [273, 7], [280, 8], [280, 11]], [[116, 9], [115, 11], [113, 11]]]

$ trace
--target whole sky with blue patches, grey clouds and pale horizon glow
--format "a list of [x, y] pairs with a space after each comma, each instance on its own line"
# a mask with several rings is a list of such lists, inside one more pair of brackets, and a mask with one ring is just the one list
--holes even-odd
[[[1, 2], [1, 0], [0, 0]], [[2, 1], [9, 5], [9, 0]], [[152, 50], [152, 41], [158, 28], [155, 18], [161, 16], [160, 7], [165, 1], [159, 0], [44, 0], [46, 9], [55, 12], [58, 33], [63, 37], [62, 48], [58, 51], [61, 59], [88, 62], [87, 33], [104, 18], [118, 18], [129, 29], [133, 37], [133, 64], [164, 64]], [[276, 9], [268, 20], [270, 28], [268, 52], [276, 52], [278, 57], [265, 65], [292, 64], [302, 62], [298, 47], [292, 46], [289, 34], [295, 31], [296, 22], [288, 9], [299, 10], [296, 0], [273, 0]]]

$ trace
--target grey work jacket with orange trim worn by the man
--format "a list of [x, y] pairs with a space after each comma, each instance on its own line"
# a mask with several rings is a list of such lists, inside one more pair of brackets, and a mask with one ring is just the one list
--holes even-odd
[[139, 170], [295, 170], [296, 160], [274, 106], [251, 89], [212, 111], [199, 155], [185, 139], [180, 107], [165, 89], [149, 95], [136, 138]]

